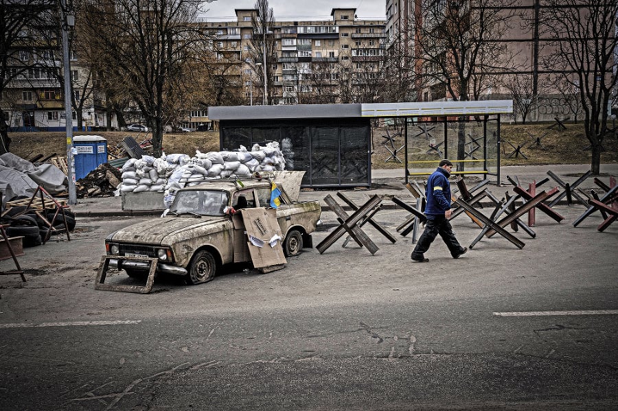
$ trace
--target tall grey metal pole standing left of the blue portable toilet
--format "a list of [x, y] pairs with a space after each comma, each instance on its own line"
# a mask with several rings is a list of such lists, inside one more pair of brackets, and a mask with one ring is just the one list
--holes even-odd
[[67, 168], [69, 172], [69, 204], [77, 204], [75, 189], [75, 161], [73, 158], [73, 116], [71, 115], [71, 65], [69, 62], [69, 30], [75, 25], [75, 17], [68, 14], [67, 0], [60, 0], [62, 25], [62, 66], [65, 76], [65, 118], [67, 128]]

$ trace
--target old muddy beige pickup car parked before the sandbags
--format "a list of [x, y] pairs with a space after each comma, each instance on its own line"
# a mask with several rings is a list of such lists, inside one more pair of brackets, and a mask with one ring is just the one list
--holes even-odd
[[[251, 261], [242, 210], [276, 208], [284, 254], [312, 247], [320, 224], [317, 201], [293, 201], [279, 187], [278, 207], [271, 207], [273, 183], [267, 178], [210, 180], [176, 192], [161, 218], [133, 224], [105, 240], [109, 266], [130, 277], [145, 277], [146, 259], [157, 259], [156, 272], [179, 274], [187, 283], [211, 280], [228, 263]], [[276, 204], [273, 204], [276, 205]]]

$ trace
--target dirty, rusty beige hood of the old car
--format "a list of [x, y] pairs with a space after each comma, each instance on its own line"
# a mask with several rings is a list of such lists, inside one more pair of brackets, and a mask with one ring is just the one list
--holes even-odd
[[225, 217], [195, 217], [183, 215], [182, 217], [154, 218], [116, 231], [112, 239], [117, 242], [132, 242], [141, 244], [163, 244], [165, 238], [176, 236], [183, 231], [199, 228], [201, 233], [220, 230], [221, 224], [231, 224]]

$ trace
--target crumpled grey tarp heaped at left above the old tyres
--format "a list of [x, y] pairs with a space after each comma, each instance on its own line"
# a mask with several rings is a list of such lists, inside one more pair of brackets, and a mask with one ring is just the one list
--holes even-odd
[[[56, 196], [69, 189], [69, 178], [55, 165], [34, 165], [15, 154], [5, 153], [0, 155], [0, 185], [7, 185], [12, 196], [32, 196], [39, 185]], [[10, 200], [8, 190], [5, 197]]]

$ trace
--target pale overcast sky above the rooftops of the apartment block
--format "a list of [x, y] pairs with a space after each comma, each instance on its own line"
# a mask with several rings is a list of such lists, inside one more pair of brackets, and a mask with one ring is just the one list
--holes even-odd
[[[330, 20], [333, 8], [356, 8], [359, 19], [385, 19], [386, 14], [385, 0], [268, 0], [268, 5], [275, 13], [275, 21]], [[207, 20], [236, 19], [234, 9], [253, 6], [255, 0], [216, 0], [205, 5], [209, 9], [205, 17]]]

